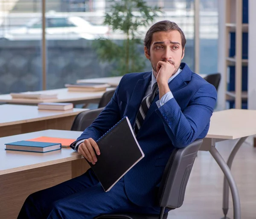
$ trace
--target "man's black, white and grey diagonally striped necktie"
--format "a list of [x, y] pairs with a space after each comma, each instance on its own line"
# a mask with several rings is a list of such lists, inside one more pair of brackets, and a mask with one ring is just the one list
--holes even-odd
[[135, 128], [134, 128], [136, 135], [140, 130], [140, 127], [142, 126], [142, 123], [146, 117], [146, 114], [151, 105], [151, 102], [154, 100], [157, 94], [158, 94], [158, 86], [157, 86], [157, 82], [155, 82], [153, 85], [152, 92], [148, 94], [148, 96], [144, 97], [144, 99], [141, 102], [140, 109], [138, 111], [136, 122], [135, 122]]

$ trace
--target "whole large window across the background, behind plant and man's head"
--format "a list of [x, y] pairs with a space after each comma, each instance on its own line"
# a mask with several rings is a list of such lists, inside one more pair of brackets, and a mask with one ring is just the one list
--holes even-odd
[[[46, 0], [47, 89], [63, 88], [78, 79], [111, 76], [111, 63], [100, 62], [91, 47], [101, 36], [109, 0]], [[185, 57], [194, 70], [194, 0], [146, 0], [160, 6], [158, 20], [175, 21], [187, 39]], [[201, 0], [200, 72], [217, 71], [217, 0]], [[3, 1], [0, 7], [0, 93], [42, 89], [41, 0]], [[75, 22], [76, 21], [76, 22]], [[88, 23], [90, 27], [88, 28]], [[29, 24], [29, 26], [28, 26]], [[25, 27], [25, 28], [24, 28]], [[76, 28], [72, 28], [76, 27]], [[149, 28], [145, 27], [147, 30]], [[145, 31], [143, 29], [143, 34]], [[118, 34], [113, 39], [122, 43]], [[143, 54], [143, 42], [141, 44]], [[151, 70], [147, 61], [144, 71]]]

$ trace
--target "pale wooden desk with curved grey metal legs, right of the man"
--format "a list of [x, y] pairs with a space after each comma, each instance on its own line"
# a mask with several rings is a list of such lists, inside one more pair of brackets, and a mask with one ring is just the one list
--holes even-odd
[[[242, 143], [249, 136], [256, 134], [256, 110], [230, 109], [214, 112], [206, 138], [200, 148], [209, 151], [224, 173], [223, 213], [229, 208], [229, 187], [233, 199], [234, 219], [241, 219], [239, 192], [231, 173], [233, 159]], [[215, 143], [228, 139], [238, 139], [230, 153], [227, 163], [215, 148]]]

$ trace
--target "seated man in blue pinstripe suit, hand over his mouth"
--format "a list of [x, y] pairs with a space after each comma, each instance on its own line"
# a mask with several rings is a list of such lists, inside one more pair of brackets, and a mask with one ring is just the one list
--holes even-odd
[[145, 157], [105, 192], [89, 169], [83, 175], [31, 194], [18, 218], [93, 219], [102, 213], [159, 213], [154, 200], [174, 148], [204, 138], [217, 92], [193, 73], [184, 57], [186, 38], [171, 21], [155, 23], [144, 40], [152, 71], [126, 74], [113, 98], [71, 147], [89, 162], [100, 156], [96, 140], [128, 116]]

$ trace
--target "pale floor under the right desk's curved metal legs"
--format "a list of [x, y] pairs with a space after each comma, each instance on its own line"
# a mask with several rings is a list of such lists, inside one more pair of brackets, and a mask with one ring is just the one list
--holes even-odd
[[[236, 140], [217, 143], [227, 160]], [[232, 173], [239, 189], [241, 218], [256, 219], [256, 148], [249, 138], [239, 149]], [[168, 219], [220, 219], [222, 213], [223, 173], [209, 152], [199, 151], [189, 178], [183, 206], [169, 212]], [[233, 202], [227, 215], [233, 219]]]

